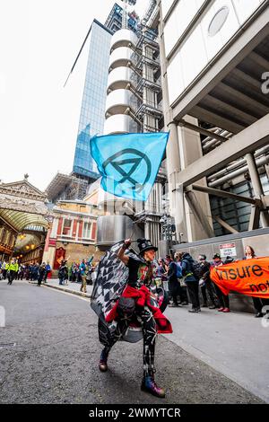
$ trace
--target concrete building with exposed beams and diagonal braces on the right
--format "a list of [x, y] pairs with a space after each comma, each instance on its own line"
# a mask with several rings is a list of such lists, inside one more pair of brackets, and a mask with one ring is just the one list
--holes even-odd
[[[174, 251], [269, 254], [269, 2], [159, 0]], [[162, 242], [163, 243], [163, 242]], [[163, 248], [165, 249], [165, 248]]]

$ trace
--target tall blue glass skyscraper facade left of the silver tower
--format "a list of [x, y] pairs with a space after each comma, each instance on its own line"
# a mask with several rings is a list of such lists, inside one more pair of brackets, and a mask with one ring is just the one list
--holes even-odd
[[91, 157], [90, 140], [91, 136], [103, 133], [111, 35], [111, 31], [100, 22], [96, 20], [92, 22], [73, 166], [74, 173], [90, 177], [91, 179], [99, 177], [96, 163]]

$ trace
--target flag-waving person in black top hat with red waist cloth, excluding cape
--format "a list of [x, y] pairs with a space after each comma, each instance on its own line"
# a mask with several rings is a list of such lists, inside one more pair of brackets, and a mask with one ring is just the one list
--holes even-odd
[[[148, 391], [159, 398], [165, 397], [165, 392], [158, 387], [154, 380], [154, 351], [155, 340], [159, 332], [172, 332], [171, 325], [166, 317], [161, 313], [160, 308], [156, 307], [155, 296], [150, 291], [153, 282], [152, 261], [155, 252], [158, 250], [152, 245], [150, 240], [138, 239], [139, 256], [129, 256], [126, 249], [131, 241], [127, 239], [117, 251], [117, 258], [120, 259], [127, 268], [129, 268], [126, 288], [119, 300], [108, 313], [106, 321], [115, 321], [116, 328], [111, 335], [103, 334], [101, 339], [105, 346], [100, 355], [100, 371], [108, 370], [108, 353], [111, 347], [122, 338], [133, 318], [138, 319], [142, 324], [143, 330], [143, 381], [141, 389]], [[117, 265], [117, 261], [114, 260]], [[161, 325], [160, 325], [161, 321]], [[104, 338], [106, 336], [106, 338]]]

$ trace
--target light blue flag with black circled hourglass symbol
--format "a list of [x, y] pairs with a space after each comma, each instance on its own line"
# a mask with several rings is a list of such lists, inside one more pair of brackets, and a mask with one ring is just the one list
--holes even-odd
[[91, 138], [91, 155], [101, 187], [117, 197], [145, 201], [156, 179], [169, 133], [121, 134]]

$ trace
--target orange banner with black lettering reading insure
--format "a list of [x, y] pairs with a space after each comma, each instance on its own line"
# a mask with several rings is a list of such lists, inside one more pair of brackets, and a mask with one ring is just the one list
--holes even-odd
[[238, 292], [269, 298], [269, 257], [242, 259], [212, 268], [210, 277], [224, 295]]

